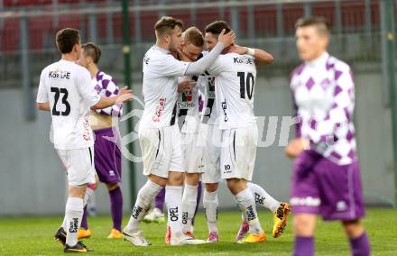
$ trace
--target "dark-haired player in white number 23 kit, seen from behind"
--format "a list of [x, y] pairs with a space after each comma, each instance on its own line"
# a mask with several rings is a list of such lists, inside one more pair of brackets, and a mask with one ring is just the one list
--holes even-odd
[[[123, 88], [118, 96], [101, 97], [90, 86], [87, 69], [75, 63], [81, 46], [78, 30], [57, 32], [56, 42], [61, 59], [42, 70], [37, 94], [37, 108], [51, 111], [54, 147], [68, 171], [69, 197], [65, 219], [55, 235], [64, 244], [65, 252], [87, 252], [78, 242], [88, 184], [95, 183], [94, 141], [88, 123], [89, 109], [106, 108], [131, 100], [131, 90]], [[86, 201], [86, 202], [85, 202]]]

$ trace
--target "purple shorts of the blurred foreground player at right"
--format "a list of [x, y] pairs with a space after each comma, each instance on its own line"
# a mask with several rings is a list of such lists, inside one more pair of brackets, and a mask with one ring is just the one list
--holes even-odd
[[291, 181], [292, 213], [322, 215], [325, 220], [363, 217], [364, 200], [358, 161], [336, 163], [303, 152], [294, 161]]

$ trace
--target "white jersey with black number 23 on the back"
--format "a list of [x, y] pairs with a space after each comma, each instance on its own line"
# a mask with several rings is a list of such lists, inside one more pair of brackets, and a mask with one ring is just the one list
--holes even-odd
[[87, 69], [60, 59], [42, 70], [38, 103], [50, 102], [53, 142], [58, 150], [94, 145], [89, 108], [100, 100]]

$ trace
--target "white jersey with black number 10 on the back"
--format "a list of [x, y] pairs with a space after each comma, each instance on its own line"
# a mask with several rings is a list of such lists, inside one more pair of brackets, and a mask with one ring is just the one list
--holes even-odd
[[228, 53], [208, 68], [215, 76], [217, 120], [222, 130], [251, 126], [254, 116], [254, 57]]

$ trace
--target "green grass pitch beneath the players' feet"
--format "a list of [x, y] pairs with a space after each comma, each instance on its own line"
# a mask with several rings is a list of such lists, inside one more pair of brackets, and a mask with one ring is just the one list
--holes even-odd
[[[364, 220], [373, 255], [397, 255], [397, 211], [392, 209], [367, 210]], [[127, 223], [125, 216], [124, 224]], [[197, 246], [167, 246], [164, 243], [165, 224], [142, 224], [149, 247], [134, 247], [129, 242], [106, 239], [110, 232], [108, 216], [88, 217], [93, 236], [85, 241], [95, 251], [90, 255], [291, 255], [293, 235], [291, 219], [280, 238], [272, 238], [272, 215], [260, 212], [260, 219], [268, 234], [268, 241], [259, 244], [236, 244], [235, 233], [241, 217], [237, 212], [219, 213], [219, 243]], [[63, 255], [59, 242], [53, 240], [61, 217], [0, 218], [0, 255]], [[205, 216], [196, 220], [196, 236], [207, 239]], [[349, 255], [345, 233], [337, 222], [319, 220], [316, 235], [317, 255]]]

